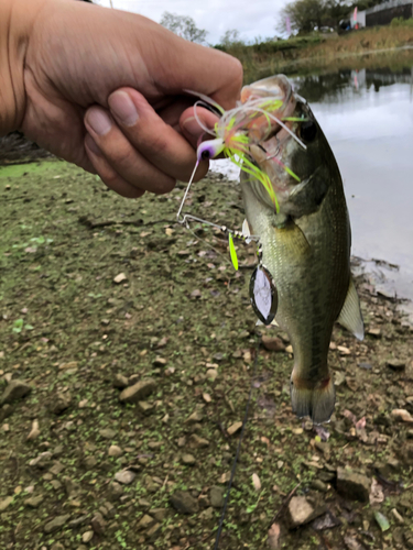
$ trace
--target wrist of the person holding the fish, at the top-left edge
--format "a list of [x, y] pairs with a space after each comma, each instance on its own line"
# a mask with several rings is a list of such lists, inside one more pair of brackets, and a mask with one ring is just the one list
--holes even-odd
[[0, 1], [0, 135], [18, 130], [22, 123], [24, 59], [31, 28], [45, 1]]

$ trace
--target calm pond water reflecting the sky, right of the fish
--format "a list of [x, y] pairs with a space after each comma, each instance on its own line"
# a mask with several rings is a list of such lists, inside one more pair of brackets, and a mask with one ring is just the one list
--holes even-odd
[[413, 59], [394, 72], [348, 67], [291, 79], [340, 167], [352, 254], [369, 261], [383, 292], [413, 299]]

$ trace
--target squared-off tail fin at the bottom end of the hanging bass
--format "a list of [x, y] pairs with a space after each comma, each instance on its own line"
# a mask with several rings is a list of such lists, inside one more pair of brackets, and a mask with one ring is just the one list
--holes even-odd
[[314, 424], [328, 422], [334, 411], [336, 392], [333, 377], [316, 387], [298, 377], [291, 377], [291, 402], [297, 417], [309, 416]]

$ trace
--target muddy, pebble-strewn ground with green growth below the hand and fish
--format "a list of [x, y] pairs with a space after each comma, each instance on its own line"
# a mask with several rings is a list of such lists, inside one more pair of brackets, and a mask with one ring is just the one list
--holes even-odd
[[[0, 548], [214, 548], [260, 333], [219, 548], [413, 548], [396, 304], [357, 280], [367, 337], [335, 328], [336, 413], [314, 429], [291, 410], [286, 334], [256, 328], [253, 250], [235, 272], [225, 238], [175, 223], [182, 194], [128, 201], [56, 161], [0, 168]], [[242, 223], [219, 176], [191, 202]]]

